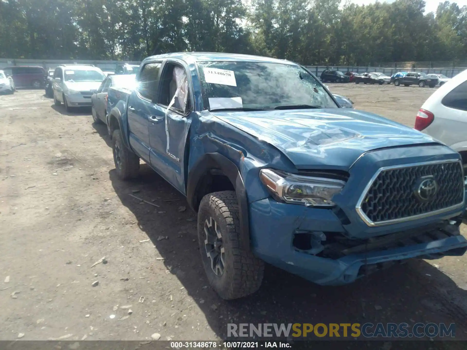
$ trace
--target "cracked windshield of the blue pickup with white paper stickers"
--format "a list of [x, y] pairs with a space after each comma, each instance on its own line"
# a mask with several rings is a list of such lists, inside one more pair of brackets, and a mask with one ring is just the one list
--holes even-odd
[[282, 63], [215, 61], [198, 63], [205, 108], [339, 108], [302, 67]]

